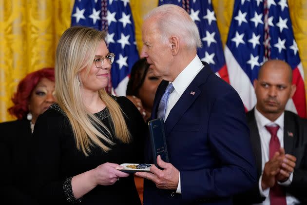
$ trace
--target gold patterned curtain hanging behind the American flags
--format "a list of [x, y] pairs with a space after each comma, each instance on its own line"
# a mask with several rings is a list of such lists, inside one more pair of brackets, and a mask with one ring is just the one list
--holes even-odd
[[[223, 45], [233, 2], [212, 0]], [[142, 17], [158, 5], [158, 0], [130, 0], [130, 4], [140, 51]], [[307, 79], [307, 0], [288, 0], [288, 4]], [[73, 5], [74, 0], [0, 0], [0, 122], [13, 119], [7, 108], [12, 105], [11, 97], [20, 79], [42, 67], [54, 66], [58, 39], [70, 26]]]

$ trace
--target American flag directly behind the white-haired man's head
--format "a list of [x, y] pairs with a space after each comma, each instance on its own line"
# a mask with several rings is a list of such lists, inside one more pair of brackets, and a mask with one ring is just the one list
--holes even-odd
[[190, 14], [203, 42], [203, 47], [198, 48], [197, 55], [201, 61], [209, 63], [215, 74], [229, 82], [222, 41], [211, 0], [159, 0], [159, 5], [167, 3], [181, 6]]

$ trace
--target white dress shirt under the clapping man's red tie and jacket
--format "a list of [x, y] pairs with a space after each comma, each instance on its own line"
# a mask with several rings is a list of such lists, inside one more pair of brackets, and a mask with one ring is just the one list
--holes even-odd
[[[277, 131], [277, 137], [279, 139], [280, 142], [280, 146], [284, 147], [284, 118], [285, 118], [285, 113], [283, 113], [281, 116], [279, 116], [279, 118], [276, 119], [276, 121], [271, 122], [268, 118], [266, 118], [264, 115], [262, 115], [257, 108], [255, 107], [254, 109], [255, 111], [255, 119], [257, 122], [257, 127], [258, 127], [258, 131], [259, 131], [259, 136], [260, 136], [260, 144], [261, 144], [261, 158], [262, 158], [262, 164], [261, 164], [261, 170], [263, 171], [265, 164], [269, 161], [269, 141], [271, 139], [271, 134], [269, 133], [269, 131], [266, 129], [266, 125], [268, 126], [279, 126], [279, 129]], [[290, 177], [288, 178], [288, 180], [286, 182], [283, 183], [279, 183], [283, 186], [288, 186], [289, 184], [292, 183], [292, 179], [293, 179], [293, 172], [291, 173]], [[260, 195], [263, 197], [266, 197], [265, 201], [263, 201], [263, 203], [261, 204], [257, 204], [257, 205], [270, 205], [270, 201], [269, 201], [269, 188], [263, 190], [262, 186], [261, 186], [261, 180], [262, 180], [262, 174], [260, 176], [259, 179], [259, 191], [260, 191]], [[286, 201], [287, 201], [287, 205], [295, 205], [298, 204], [299, 201], [292, 196], [289, 193], [286, 193]]]

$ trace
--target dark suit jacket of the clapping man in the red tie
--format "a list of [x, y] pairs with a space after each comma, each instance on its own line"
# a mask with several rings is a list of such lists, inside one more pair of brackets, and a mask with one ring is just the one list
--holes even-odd
[[[250, 141], [257, 164], [258, 181], [262, 173], [261, 144], [259, 131], [254, 115], [254, 109], [247, 113], [250, 129]], [[298, 115], [285, 111], [284, 121], [285, 152], [297, 158], [293, 172], [293, 181], [286, 191], [291, 193], [302, 204], [307, 204], [307, 120]], [[258, 184], [250, 191], [234, 197], [234, 204], [249, 205], [265, 200], [260, 196]]]

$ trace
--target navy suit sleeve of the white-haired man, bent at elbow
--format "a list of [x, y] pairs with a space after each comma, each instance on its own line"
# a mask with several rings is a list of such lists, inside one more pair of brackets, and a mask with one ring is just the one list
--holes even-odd
[[244, 106], [230, 92], [213, 102], [208, 125], [209, 146], [218, 162], [214, 168], [181, 171], [182, 197], [230, 197], [257, 184]]

